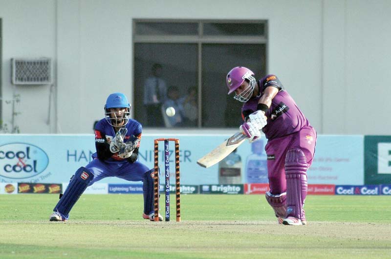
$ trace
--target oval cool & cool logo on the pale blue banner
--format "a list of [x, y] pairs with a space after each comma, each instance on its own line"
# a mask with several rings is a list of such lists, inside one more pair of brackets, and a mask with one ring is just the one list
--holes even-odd
[[46, 169], [49, 158], [39, 147], [27, 143], [0, 146], [0, 176], [11, 179], [30, 178]]

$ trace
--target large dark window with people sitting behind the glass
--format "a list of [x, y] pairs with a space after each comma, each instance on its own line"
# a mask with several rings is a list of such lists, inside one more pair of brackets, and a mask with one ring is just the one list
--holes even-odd
[[265, 75], [267, 22], [134, 20], [133, 51], [132, 109], [144, 127], [238, 127], [242, 103], [227, 95], [225, 76], [239, 65]]

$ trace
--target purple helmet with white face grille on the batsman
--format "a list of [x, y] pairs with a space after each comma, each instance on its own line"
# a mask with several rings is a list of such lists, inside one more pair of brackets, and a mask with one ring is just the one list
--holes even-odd
[[244, 66], [237, 66], [231, 69], [230, 72], [228, 72], [227, 77], [225, 79], [229, 89], [228, 94], [231, 94], [236, 89], [238, 89], [246, 79], [250, 82], [249, 87], [247, 87], [243, 90], [243, 92], [241, 92], [239, 95], [235, 95], [234, 97], [234, 99], [239, 100], [241, 102], [248, 101], [253, 94], [256, 82], [253, 71]]

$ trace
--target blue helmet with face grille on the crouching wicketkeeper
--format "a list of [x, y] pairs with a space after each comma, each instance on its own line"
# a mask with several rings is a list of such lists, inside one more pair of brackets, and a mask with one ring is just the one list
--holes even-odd
[[[124, 113], [120, 114], [121, 115], [120, 118], [117, 118], [118, 114], [109, 112], [110, 108], [126, 108], [126, 110]], [[109, 97], [106, 100], [105, 115], [106, 115], [106, 120], [109, 122], [111, 126], [122, 127], [128, 124], [130, 119], [130, 103], [128, 101], [128, 98], [126, 98], [126, 96], [123, 93], [113, 93], [109, 95]]]

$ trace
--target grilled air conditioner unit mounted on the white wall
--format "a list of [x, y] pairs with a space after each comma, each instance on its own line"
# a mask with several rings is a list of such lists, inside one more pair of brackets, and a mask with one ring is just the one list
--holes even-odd
[[11, 66], [13, 84], [53, 83], [53, 66], [49, 58], [11, 59]]

